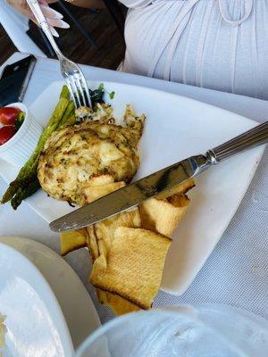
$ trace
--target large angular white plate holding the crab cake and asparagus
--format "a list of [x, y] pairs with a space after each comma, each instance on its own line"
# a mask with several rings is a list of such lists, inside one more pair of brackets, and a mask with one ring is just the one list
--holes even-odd
[[[93, 82], [91, 87], [98, 84]], [[31, 105], [31, 112], [42, 124], [54, 108], [62, 85], [54, 82]], [[257, 124], [212, 105], [155, 89], [111, 82], [105, 82], [105, 89], [115, 91], [114, 99], [107, 96], [106, 100], [113, 104], [117, 115], [122, 114], [126, 103], [133, 104], [136, 112], [147, 114], [136, 179], [192, 154], [204, 153]], [[164, 291], [181, 295], [196, 277], [237, 211], [263, 153], [264, 147], [255, 148], [197, 178], [197, 188], [189, 194], [192, 202], [188, 212], [173, 236], [163, 273]], [[16, 171], [1, 162], [6, 181], [13, 179]], [[72, 210], [67, 203], [56, 202], [42, 191], [30, 197], [28, 203], [47, 221]]]

